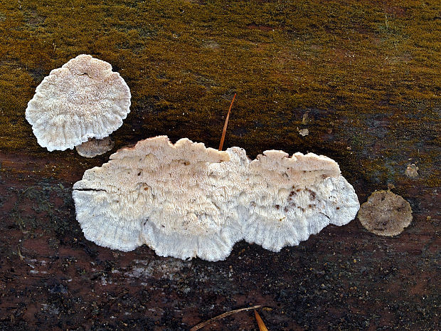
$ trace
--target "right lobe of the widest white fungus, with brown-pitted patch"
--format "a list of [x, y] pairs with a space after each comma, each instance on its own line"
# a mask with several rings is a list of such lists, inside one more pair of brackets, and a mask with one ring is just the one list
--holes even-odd
[[[230, 153], [238, 149], [229, 149]], [[242, 149], [243, 151], [243, 149]], [[356, 193], [329, 157], [270, 150], [246, 159], [238, 196], [243, 236], [271, 251], [294, 246], [325, 226], [354, 219]]]

